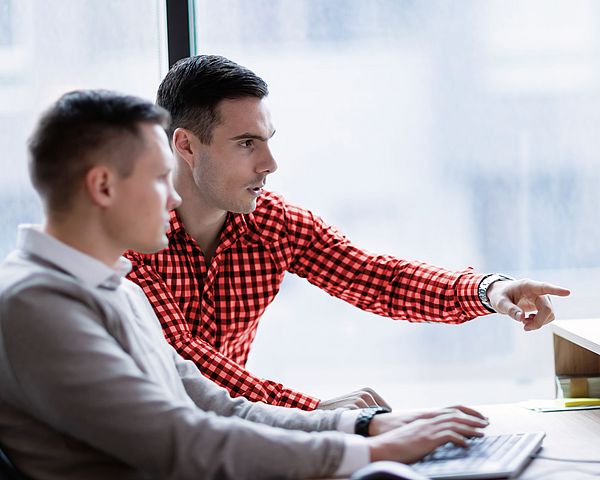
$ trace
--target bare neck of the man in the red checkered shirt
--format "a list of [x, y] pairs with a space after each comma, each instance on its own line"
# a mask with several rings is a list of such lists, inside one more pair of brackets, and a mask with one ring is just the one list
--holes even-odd
[[182, 199], [177, 212], [186, 232], [196, 240], [208, 262], [217, 248], [227, 211], [207, 204], [189, 171], [178, 169], [173, 181]]

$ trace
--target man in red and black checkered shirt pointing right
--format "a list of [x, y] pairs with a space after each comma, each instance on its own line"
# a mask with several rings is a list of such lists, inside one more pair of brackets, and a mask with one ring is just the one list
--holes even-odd
[[173, 117], [168, 133], [183, 203], [171, 212], [165, 250], [128, 253], [129, 278], [144, 289], [167, 340], [207, 377], [232, 396], [279, 406], [387, 406], [371, 389], [320, 401], [244, 368], [285, 272], [394, 319], [462, 323], [500, 312], [533, 330], [554, 318], [548, 294], [568, 295], [564, 288], [374, 255], [264, 190], [277, 169], [267, 94], [253, 72], [209, 55], [178, 62], [158, 90], [158, 104]]

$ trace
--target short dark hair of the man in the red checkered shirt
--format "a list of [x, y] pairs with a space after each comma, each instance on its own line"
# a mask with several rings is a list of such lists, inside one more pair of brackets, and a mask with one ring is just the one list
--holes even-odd
[[167, 109], [176, 128], [186, 128], [205, 145], [218, 125], [218, 105], [225, 99], [263, 98], [266, 82], [246, 67], [218, 55], [197, 55], [178, 61], [158, 87], [156, 103]]

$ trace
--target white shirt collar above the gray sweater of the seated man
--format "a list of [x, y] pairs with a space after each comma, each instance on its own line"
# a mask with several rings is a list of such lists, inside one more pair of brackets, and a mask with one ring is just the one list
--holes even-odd
[[116, 289], [131, 271], [131, 262], [119, 258], [113, 268], [44, 233], [39, 225], [19, 225], [17, 248], [56, 265], [90, 287]]

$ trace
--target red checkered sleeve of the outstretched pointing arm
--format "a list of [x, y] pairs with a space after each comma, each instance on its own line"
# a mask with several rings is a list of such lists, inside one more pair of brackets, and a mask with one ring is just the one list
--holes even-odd
[[483, 275], [376, 255], [353, 245], [311, 212], [285, 204], [289, 271], [363, 310], [413, 322], [462, 323], [489, 311], [477, 286]]

